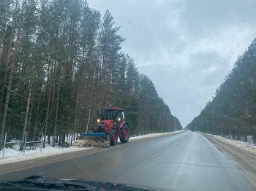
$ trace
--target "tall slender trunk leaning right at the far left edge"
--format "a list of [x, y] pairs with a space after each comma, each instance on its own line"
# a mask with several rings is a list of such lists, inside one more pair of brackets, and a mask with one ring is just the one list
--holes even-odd
[[9, 82], [8, 82], [8, 87], [7, 87], [7, 95], [5, 97], [4, 114], [2, 117], [2, 121], [1, 121], [0, 150], [2, 149], [2, 144], [4, 141], [4, 129], [5, 129], [6, 119], [7, 119], [7, 111], [8, 111], [8, 105], [9, 105], [9, 99], [10, 99], [10, 93], [11, 93], [11, 87], [12, 87], [12, 78], [13, 78], [13, 73], [14, 73], [14, 68], [15, 68], [15, 58], [16, 58], [16, 55], [18, 52], [18, 43], [20, 42], [21, 22], [23, 20], [23, 7], [24, 7], [24, 3], [22, 5], [22, 9], [20, 12], [19, 26], [18, 26], [17, 38], [16, 38], [16, 42], [15, 42], [15, 50], [13, 52], [12, 63], [10, 66], [10, 77], [9, 77]]

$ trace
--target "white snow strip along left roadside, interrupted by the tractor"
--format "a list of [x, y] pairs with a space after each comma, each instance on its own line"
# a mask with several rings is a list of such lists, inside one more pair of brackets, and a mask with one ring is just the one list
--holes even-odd
[[[130, 137], [129, 141], [136, 141], [136, 140], [143, 140], [143, 139], [150, 139], [150, 138], [157, 138], [161, 136], [168, 136], [168, 135], [173, 135], [176, 133], [181, 133], [181, 131], [176, 131], [172, 133], [151, 133], [143, 136], [135, 136], [135, 137]], [[0, 165], [4, 165], [7, 163], [15, 163], [15, 162], [20, 162], [24, 160], [31, 160], [39, 157], [48, 157], [48, 156], [53, 156], [53, 155], [59, 155], [59, 154], [64, 154], [64, 153], [69, 153], [69, 152], [76, 152], [80, 150], [86, 150], [86, 149], [93, 149], [94, 147], [69, 147], [69, 148], [62, 148], [59, 146], [56, 147], [45, 147], [45, 149], [42, 149], [42, 152], [40, 152], [40, 148], [38, 147], [35, 150], [26, 150], [25, 155], [23, 155], [23, 152], [18, 151], [18, 149], [5, 149], [4, 151], [4, 157], [2, 157], [3, 150], [0, 151]]]

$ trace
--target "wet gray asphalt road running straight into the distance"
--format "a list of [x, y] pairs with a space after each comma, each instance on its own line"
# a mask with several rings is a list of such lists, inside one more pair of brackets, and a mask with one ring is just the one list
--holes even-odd
[[[38, 175], [157, 190], [256, 190], [233, 160], [219, 152], [203, 135], [190, 131], [108, 149], [92, 149], [53, 163], [40, 165], [37, 160], [28, 163], [35, 167], [18, 171], [12, 168], [8, 173], [6, 169], [1, 172], [0, 166], [0, 180]], [[22, 168], [22, 163], [12, 165]]]

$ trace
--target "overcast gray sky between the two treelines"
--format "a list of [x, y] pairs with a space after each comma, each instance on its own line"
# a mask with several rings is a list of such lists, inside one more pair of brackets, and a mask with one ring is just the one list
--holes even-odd
[[123, 51], [154, 82], [183, 127], [212, 100], [256, 37], [255, 0], [88, 0], [109, 9]]

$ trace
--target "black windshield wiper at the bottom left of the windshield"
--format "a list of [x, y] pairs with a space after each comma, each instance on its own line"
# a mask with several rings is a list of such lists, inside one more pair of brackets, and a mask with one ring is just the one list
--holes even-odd
[[90, 190], [96, 191], [99, 185], [86, 184], [86, 182], [67, 181], [60, 179], [30, 176], [17, 181], [0, 182], [0, 190]]

